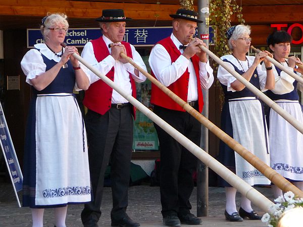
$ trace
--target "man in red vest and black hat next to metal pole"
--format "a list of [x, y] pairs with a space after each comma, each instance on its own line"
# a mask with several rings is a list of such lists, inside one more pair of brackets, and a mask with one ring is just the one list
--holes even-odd
[[[214, 81], [206, 53], [199, 48], [199, 45], [206, 44], [200, 39], [190, 38], [195, 33], [197, 23], [202, 21], [197, 19], [196, 12], [190, 10], [179, 9], [176, 14], [170, 16], [174, 18], [173, 32], [151, 50], [148, 60], [151, 74], [201, 112], [202, 89], [208, 89]], [[155, 105], [154, 112], [199, 146], [200, 123], [157, 86], [151, 86], [150, 102]], [[181, 223], [201, 224], [201, 219], [190, 213], [189, 203], [196, 157], [159, 126], [155, 127], [161, 151], [160, 192], [163, 223], [167, 226], [180, 226]]]

